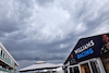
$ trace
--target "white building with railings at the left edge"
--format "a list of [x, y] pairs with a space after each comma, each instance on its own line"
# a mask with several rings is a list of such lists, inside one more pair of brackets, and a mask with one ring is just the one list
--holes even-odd
[[19, 63], [0, 42], [0, 73], [15, 73]]

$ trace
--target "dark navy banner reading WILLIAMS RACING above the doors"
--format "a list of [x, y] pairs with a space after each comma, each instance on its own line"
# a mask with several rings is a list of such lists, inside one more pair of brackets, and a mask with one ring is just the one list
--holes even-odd
[[65, 63], [75, 64], [105, 53], [109, 53], [109, 34], [82, 38], [70, 53]]

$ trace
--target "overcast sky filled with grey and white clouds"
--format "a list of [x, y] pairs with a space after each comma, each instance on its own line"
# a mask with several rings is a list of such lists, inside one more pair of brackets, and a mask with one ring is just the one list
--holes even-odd
[[82, 37], [109, 33], [109, 0], [0, 0], [0, 41], [19, 62], [63, 63]]

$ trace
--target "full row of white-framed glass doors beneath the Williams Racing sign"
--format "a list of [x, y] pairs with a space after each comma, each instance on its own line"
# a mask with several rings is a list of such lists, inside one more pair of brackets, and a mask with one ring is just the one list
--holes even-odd
[[[107, 64], [107, 69], [108, 69]], [[108, 72], [108, 71], [107, 71]], [[76, 65], [68, 66], [68, 73], [106, 73], [99, 59], [90, 59]]]

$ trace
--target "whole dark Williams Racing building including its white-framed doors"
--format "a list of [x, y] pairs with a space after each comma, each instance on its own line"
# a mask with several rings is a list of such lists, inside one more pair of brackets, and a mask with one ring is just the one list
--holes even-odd
[[81, 38], [63, 69], [64, 73], [109, 73], [109, 34]]

